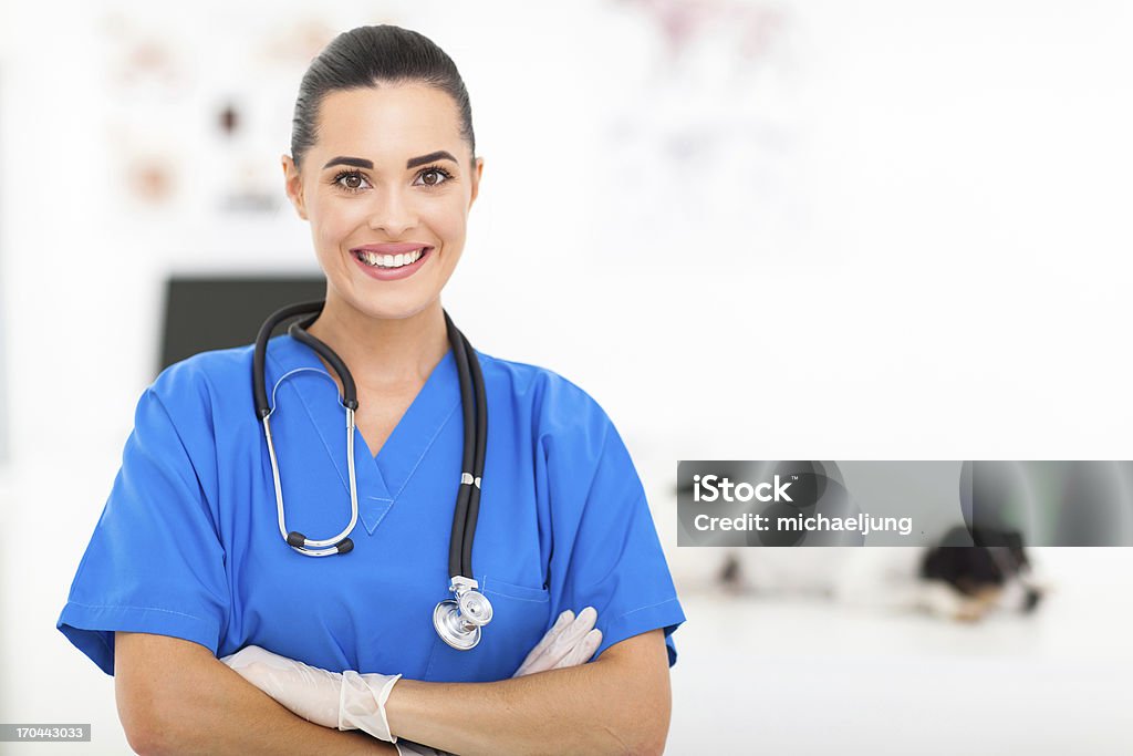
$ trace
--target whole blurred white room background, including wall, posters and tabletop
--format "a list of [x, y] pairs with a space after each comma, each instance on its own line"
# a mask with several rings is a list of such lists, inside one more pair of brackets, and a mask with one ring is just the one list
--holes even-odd
[[1038, 610], [957, 622], [736, 591], [675, 534], [679, 459], [1133, 459], [1121, 0], [2, 0], [0, 722], [94, 740], [0, 753], [129, 753], [56, 619], [170, 282], [320, 277], [280, 155], [312, 57], [375, 23], [471, 95], [446, 308], [595, 397], [650, 493], [668, 753], [1128, 753], [1133, 550], [1031, 549]]

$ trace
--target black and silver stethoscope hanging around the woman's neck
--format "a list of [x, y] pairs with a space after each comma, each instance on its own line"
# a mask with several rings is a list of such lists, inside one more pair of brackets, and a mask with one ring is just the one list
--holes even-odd
[[[353, 549], [353, 542], [348, 537], [358, 523], [358, 485], [355, 479], [353, 436], [355, 410], [358, 409], [358, 393], [353, 376], [347, 369], [346, 363], [334, 354], [334, 350], [321, 340], [307, 333], [307, 328], [323, 312], [325, 300], [305, 301], [289, 305], [272, 313], [259, 326], [256, 337], [256, 348], [252, 359], [252, 390], [256, 400], [256, 416], [263, 421], [264, 438], [267, 440], [267, 455], [272, 460], [272, 479], [275, 485], [275, 510], [279, 515], [280, 535], [291, 549], [307, 557], [329, 557], [346, 554]], [[444, 312], [442, 309], [442, 312]], [[296, 315], [314, 313], [312, 317], [295, 321], [288, 328], [288, 335], [296, 339], [325, 359], [342, 381], [343, 400], [340, 401], [347, 410], [347, 464], [350, 472], [350, 523], [335, 536], [323, 540], [308, 538], [297, 530], [288, 530], [283, 520], [283, 491], [280, 486], [279, 464], [275, 460], [275, 445], [272, 443], [270, 417], [273, 407], [267, 405], [267, 391], [264, 384], [264, 363], [267, 355], [267, 340], [275, 326]], [[476, 535], [476, 517], [480, 509], [480, 476], [484, 473], [485, 447], [487, 445], [487, 400], [484, 396], [484, 376], [480, 363], [468, 339], [452, 323], [449, 313], [444, 313], [444, 324], [449, 331], [449, 343], [455, 357], [457, 372], [460, 375], [460, 404], [465, 418], [465, 452], [461, 465], [460, 485], [457, 490], [457, 509], [452, 517], [452, 536], [449, 541], [449, 591], [455, 598], [446, 598], [433, 610], [433, 627], [446, 644], [458, 651], [468, 651], [480, 642], [480, 628], [492, 621], [492, 603], [482, 594], [476, 580], [472, 579], [472, 538]], [[475, 414], [472, 411], [472, 394], [475, 392]], [[273, 397], [274, 399], [274, 397]]]

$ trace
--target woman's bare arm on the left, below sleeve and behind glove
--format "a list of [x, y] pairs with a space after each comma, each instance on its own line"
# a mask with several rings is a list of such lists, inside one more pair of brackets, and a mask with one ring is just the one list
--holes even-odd
[[130, 747], [150, 754], [395, 754], [363, 732], [312, 724], [275, 703], [204, 646], [114, 634], [114, 694]]

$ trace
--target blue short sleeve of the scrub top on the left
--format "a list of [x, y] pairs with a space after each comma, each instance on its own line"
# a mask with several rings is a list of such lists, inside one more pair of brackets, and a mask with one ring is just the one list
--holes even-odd
[[215, 654], [227, 627], [224, 551], [185, 442], [199, 455], [211, 432], [204, 417], [193, 426], [179, 432], [153, 387], [145, 390], [56, 625], [107, 674], [114, 673], [116, 630], [184, 638]]

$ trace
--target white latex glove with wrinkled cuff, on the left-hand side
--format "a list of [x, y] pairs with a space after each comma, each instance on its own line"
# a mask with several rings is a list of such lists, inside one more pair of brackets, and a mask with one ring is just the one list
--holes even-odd
[[259, 646], [245, 646], [220, 661], [308, 722], [398, 741], [390, 733], [385, 700], [400, 674], [329, 672]]

